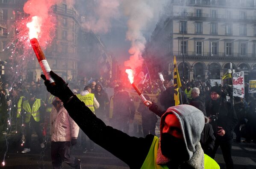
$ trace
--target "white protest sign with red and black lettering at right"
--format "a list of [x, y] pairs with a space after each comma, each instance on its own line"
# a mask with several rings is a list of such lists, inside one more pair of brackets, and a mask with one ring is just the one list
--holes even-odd
[[244, 98], [244, 71], [233, 73], [233, 96]]

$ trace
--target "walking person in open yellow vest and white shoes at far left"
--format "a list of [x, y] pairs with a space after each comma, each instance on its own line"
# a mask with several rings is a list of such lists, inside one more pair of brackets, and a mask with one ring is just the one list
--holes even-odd
[[24, 150], [21, 153], [30, 152], [30, 143], [32, 130], [35, 130], [41, 148], [44, 148], [44, 140], [42, 136], [42, 128], [40, 126], [41, 122], [41, 113], [45, 109], [44, 102], [41, 102], [41, 99], [36, 99], [34, 93], [29, 93], [28, 99], [22, 103], [22, 113], [24, 114], [25, 119], [25, 128], [26, 128], [26, 142], [24, 145]]

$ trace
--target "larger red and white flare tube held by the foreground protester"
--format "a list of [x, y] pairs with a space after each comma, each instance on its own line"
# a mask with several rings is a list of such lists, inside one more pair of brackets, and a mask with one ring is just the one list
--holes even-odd
[[46, 77], [46, 79], [50, 80], [50, 83], [52, 85], [55, 85], [54, 80], [50, 76], [50, 71], [51, 71], [50, 66], [44, 56], [44, 52], [41, 50], [38, 40], [36, 38], [32, 38], [30, 39], [30, 44], [32, 45], [36, 58], [41, 66], [41, 69], [44, 72], [44, 76]]

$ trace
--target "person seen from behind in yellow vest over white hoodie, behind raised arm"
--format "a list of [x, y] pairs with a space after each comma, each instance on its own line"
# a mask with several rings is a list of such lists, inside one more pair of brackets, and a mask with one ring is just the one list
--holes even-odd
[[[79, 100], [85, 103], [85, 105], [95, 114], [94, 108], [99, 108], [100, 104], [97, 99], [94, 97], [94, 94], [91, 93], [91, 87], [85, 86], [84, 90], [81, 91], [80, 94], [77, 94]], [[79, 145], [82, 146], [82, 152], [86, 153], [88, 150], [94, 150], [94, 143], [88, 139], [85, 133], [79, 129], [78, 135], [78, 142]]]

